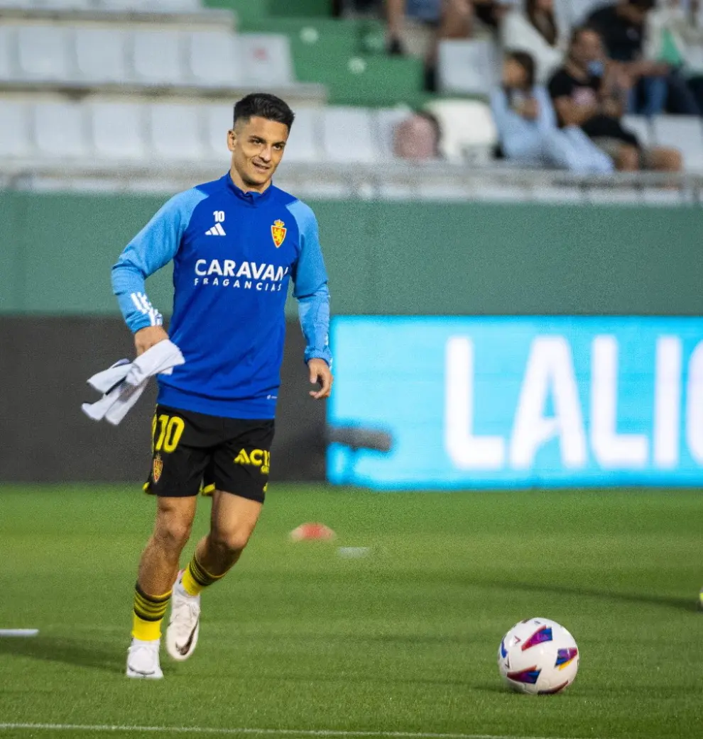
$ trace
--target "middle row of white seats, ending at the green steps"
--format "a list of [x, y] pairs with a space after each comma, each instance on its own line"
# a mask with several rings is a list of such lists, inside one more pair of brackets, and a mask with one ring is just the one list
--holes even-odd
[[[132, 24], [133, 26], [134, 24]], [[324, 90], [295, 81], [288, 39], [215, 27], [0, 24], [0, 88], [55, 86], [119, 92], [179, 88], [236, 91], [266, 85], [294, 101], [321, 102]]]

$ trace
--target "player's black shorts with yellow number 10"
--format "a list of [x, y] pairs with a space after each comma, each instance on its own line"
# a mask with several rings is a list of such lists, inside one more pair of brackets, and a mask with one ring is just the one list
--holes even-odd
[[163, 497], [222, 490], [263, 503], [273, 435], [272, 418], [221, 418], [156, 406], [144, 490]]

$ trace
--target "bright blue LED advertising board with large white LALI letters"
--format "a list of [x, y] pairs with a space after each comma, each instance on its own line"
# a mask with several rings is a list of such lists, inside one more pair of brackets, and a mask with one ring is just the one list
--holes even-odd
[[332, 349], [329, 422], [393, 440], [332, 482], [703, 484], [703, 319], [340, 317]]

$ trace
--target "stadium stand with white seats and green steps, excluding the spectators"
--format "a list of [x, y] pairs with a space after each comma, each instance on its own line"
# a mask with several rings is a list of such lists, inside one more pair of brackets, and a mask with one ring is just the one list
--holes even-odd
[[[573, 23], [600, 2], [563, 0], [559, 10]], [[297, 112], [280, 177], [301, 193], [596, 202], [620, 183], [613, 200], [699, 198], [698, 119], [625, 118], [645, 145], [682, 149], [679, 180], [517, 170], [493, 159], [494, 41], [442, 41], [443, 95], [428, 95], [421, 60], [374, 50], [378, 21], [323, 17], [325, 5], [0, 0], [0, 184], [164, 190], [216, 176], [232, 102], [269, 89]], [[394, 157], [396, 126], [420, 107], [440, 122], [441, 162]]]

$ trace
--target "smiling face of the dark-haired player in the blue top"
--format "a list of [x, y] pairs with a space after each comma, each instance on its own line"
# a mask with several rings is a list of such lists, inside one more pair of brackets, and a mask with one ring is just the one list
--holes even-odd
[[275, 120], [252, 116], [240, 120], [227, 136], [232, 167], [252, 190], [268, 187], [288, 140], [288, 126]]

